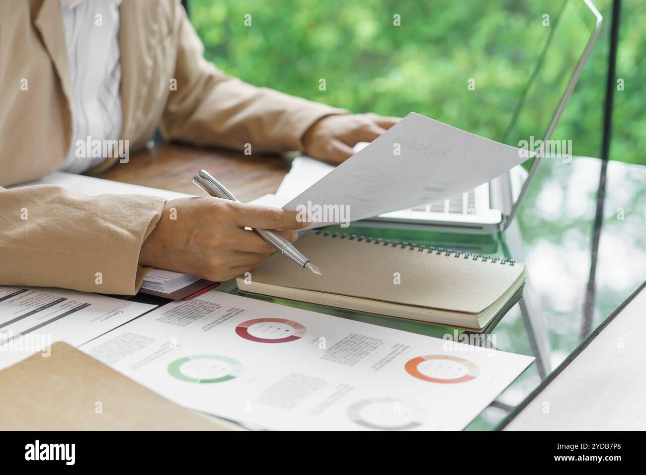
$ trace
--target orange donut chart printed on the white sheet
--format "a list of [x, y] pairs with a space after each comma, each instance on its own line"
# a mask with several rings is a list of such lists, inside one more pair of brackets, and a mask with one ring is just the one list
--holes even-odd
[[[426, 362], [430, 360], [432, 360], [431, 369], [435, 373], [434, 376], [424, 374], [424, 370], [420, 370], [420, 365], [422, 365], [422, 368], [424, 364], [429, 366]], [[408, 360], [404, 368], [408, 374], [423, 381], [430, 381], [431, 383], [465, 383], [466, 381], [475, 379], [480, 374], [480, 368], [478, 368], [477, 364], [472, 363], [468, 359], [450, 355], [418, 356], [417, 358]], [[466, 372], [464, 372], [465, 369]], [[455, 374], [455, 377], [452, 377], [452, 374]]]

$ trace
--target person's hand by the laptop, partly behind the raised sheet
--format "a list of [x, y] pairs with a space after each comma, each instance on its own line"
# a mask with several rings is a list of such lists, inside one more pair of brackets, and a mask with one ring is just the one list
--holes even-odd
[[303, 136], [305, 153], [332, 164], [353, 156], [352, 147], [372, 142], [399, 121], [377, 114], [326, 116], [314, 123]]

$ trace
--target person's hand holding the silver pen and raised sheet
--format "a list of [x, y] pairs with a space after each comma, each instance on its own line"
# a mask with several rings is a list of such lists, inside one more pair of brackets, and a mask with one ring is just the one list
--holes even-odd
[[242, 204], [212, 197], [180, 198], [166, 202], [161, 218], [143, 242], [139, 264], [228, 280], [253, 271], [276, 249], [245, 227], [281, 229], [294, 242], [309, 223], [297, 212]]

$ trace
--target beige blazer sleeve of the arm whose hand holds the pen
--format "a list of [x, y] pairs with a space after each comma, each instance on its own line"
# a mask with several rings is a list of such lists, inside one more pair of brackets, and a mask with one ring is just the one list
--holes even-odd
[[53, 185], [0, 187], [0, 284], [134, 295], [151, 268], [141, 244], [156, 196], [88, 196]]

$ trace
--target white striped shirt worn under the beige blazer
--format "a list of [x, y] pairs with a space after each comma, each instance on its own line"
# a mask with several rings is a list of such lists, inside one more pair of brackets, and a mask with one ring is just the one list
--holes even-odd
[[[98, 165], [107, 157], [87, 157], [77, 141], [117, 140], [121, 133], [121, 0], [61, 0], [70, 70], [74, 132], [59, 170], [70, 173]], [[79, 156], [80, 155], [80, 156]]]

